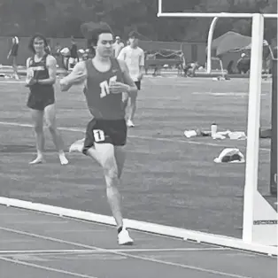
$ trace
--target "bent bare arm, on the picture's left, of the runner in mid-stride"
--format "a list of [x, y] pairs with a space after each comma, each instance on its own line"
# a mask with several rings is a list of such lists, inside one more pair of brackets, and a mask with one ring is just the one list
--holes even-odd
[[60, 81], [60, 86], [62, 91], [70, 89], [73, 85], [80, 84], [86, 81], [87, 78], [87, 68], [84, 61], [77, 63], [73, 67], [73, 71], [69, 73]]

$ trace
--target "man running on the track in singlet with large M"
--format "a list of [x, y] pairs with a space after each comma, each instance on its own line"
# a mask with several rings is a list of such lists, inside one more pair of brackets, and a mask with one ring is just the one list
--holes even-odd
[[96, 159], [104, 170], [106, 195], [118, 228], [118, 243], [132, 244], [123, 225], [120, 193], [117, 188], [125, 163], [124, 145], [127, 125], [123, 93], [137, 92], [124, 61], [112, 58], [113, 35], [108, 26], [99, 25], [91, 32], [94, 58], [81, 61], [73, 72], [60, 81], [61, 89], [84, 82], [84, 94], [93, 119], [89, 121], [84, 140], [73, 143], [70, 151], [80, 151]]

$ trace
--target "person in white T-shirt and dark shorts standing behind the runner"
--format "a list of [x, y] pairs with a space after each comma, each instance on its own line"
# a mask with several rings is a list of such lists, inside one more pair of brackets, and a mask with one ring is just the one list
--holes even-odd
[[[124, 60], [127, 64], [127, 68], [129, 70], [129, 74], [133, 81], [135, 81], [135, 85], [137, 89], [141, 89], [141, 81], [143, 79], [143, 70], [144, 70], [144, 53], [143, 50], [138, 46], [138, 37], [135, 32], [131, 32], [128, 35], [129, 45], [124, 47], [118, 56], [118, 59]], [[127, 127], [135, 127], [134, 117], [136, 111], [136, 99], [137, 94], [133, 94], [130, 96], [130, 114], [127, 119]], [[127, 105], [126, 100], [126, 105]]]

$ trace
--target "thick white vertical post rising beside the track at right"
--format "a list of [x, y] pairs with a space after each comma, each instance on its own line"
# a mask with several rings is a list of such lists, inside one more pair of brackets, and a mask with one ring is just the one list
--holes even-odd
[[259, 116], [261, 95], [261, 71], [264, 39], [264, 17], [252, 16], [251, 72], [249, 85], [247, 151], [245, 187], [243, 199], [243, 241], [252, 242], [253, 202], [258, 190], [259, 165]]

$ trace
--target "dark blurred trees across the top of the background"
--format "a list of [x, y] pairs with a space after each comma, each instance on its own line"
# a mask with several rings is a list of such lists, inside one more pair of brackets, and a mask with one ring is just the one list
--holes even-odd
[[[164, 12], [277, 12], [276, 0], [163, 0]], [[81, 24], [104, 21], [125, 38], [136, 30], [146, 40], [205, 42], [212, 19], [158, 18], [158, 0], [0, 0], [2, 36], [81, 38]], [[220, 19], [217, 37], [227, 31], [251, 35], [251, 19]], [[265, 39], [274, 40], [277, 20], [266, 19]]]

